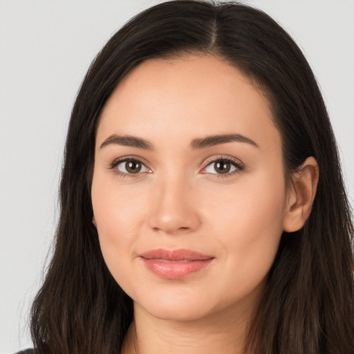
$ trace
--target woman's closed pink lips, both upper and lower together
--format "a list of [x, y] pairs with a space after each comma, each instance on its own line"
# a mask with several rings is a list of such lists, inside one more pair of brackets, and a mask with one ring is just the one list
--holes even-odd
[[206, 268], [214, 257], [191, 250], [158, 248], [140, 254], [148, 270], [164, 279], [180, 279]]

